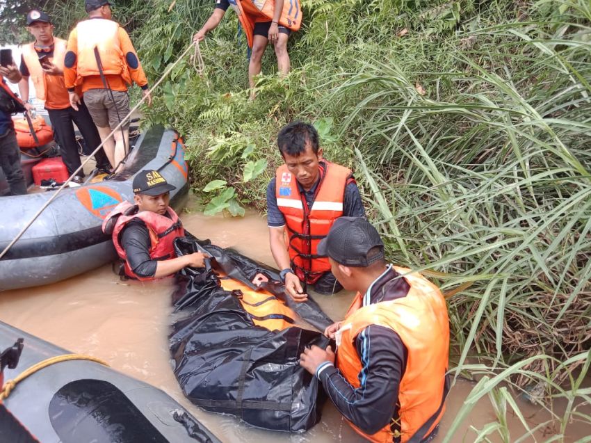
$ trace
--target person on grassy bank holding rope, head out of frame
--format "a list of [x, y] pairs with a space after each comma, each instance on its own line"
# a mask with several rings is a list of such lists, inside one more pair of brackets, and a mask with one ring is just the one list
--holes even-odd
[[261, 61], [268, 45], [275, 46], [277, 66], [282, 74], [289, 72], [287, 39], [291, 31], [298, 31], [302, 24], [302, 10], [299, 0], [266, 0], [257, 6], [250, 0], [216, 0], [216, 8], [203, 27], [195, 33], [193, 40], [201, 42], [212, 29], [222, 21], [226, 10], [232, 6], [242, 29], [246, 34], [248, 47], [252, 49], [248, 65], [248, 82], [254, 88], [254, 76], [261, 73]]

